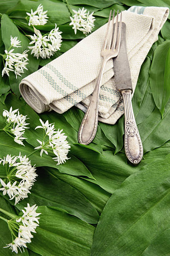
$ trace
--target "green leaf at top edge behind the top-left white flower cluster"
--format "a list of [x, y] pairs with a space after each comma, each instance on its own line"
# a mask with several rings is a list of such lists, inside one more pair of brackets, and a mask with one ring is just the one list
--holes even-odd
[[31, 13], [31, 9], [35, 11], [40, 3], [43, 5], [43, 10], [47, 10], [48, 21], [50, 23], [61, 25], [70, 21], [70, 13], [67, 5], [62, 1], [54, 3], [49, 0], [41, 0], [40, 2], [19, 0], [17, 5], [7, 11], [7, 14], [11, 17], [26, 18], [26, 13]]

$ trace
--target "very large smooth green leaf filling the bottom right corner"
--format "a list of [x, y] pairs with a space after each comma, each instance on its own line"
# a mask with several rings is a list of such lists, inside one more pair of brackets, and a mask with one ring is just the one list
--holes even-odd
[[[169, 165], [170, 156], [166, 161], [154, 161], [131, 175], [113, 193], [98, 222], [92, 256], [110, 256], [110, 252], [119, 256], [145, 255], [147, 248], [148, 255], [165, 255], [161, 254], [162, 247], [152, 245], [169, 228]], [[170, 243], [165, 244], [165, 251], [170, 252]], [[158, 254], [154, 254], [157, 250]]]

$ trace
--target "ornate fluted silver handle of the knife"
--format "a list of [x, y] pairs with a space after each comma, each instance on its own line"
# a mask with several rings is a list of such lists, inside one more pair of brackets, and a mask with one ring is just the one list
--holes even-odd
[[121, 90], [125, 109], [125, 153], [132, 164], [139, 164], [143, 158], [143, 146], [133, 114], [131, 89]]

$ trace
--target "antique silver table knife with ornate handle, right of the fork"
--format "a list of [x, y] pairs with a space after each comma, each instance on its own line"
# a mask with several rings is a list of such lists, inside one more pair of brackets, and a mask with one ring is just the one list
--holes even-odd
[[133, 88], [126, 49], [125, 23], [122, 23], [120, 50], [117, 58], [113, 59], [113, 70], [115, 73], [115, 84], [123, 97], [125, 109], [125, 154], [132, 164], [139, 164], [143, 158], [143, 146], [135, 122], [131, 101]]

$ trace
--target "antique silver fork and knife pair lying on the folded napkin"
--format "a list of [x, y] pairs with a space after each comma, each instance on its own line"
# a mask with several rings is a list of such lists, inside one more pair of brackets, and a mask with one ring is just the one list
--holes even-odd
[[[122, 22], [122, 12], [118, 22], [117, 11], [114, 23], [115, 11], [110, 11], [106, 35], [101, 51], [102, 65], [97, 78], [95, 90], [90, 105], [85, 113], [79, 128], [78, 141], [89, 144], [95, 137], [98, 123], [98, 104], [100, 85], [105, 65], [108, 60], [113, 60], [113, 70], [117, 90], [123, 97], [125, 110], [125, 154], [132, 164], [138, 164], [143, 157], [143, 146], [133, 114], [131, 94], [133, 92], [130, 75], [130, 67], [126, 50], [126, 25]], [[112, 15], [112, 22], [111, 22]]]

